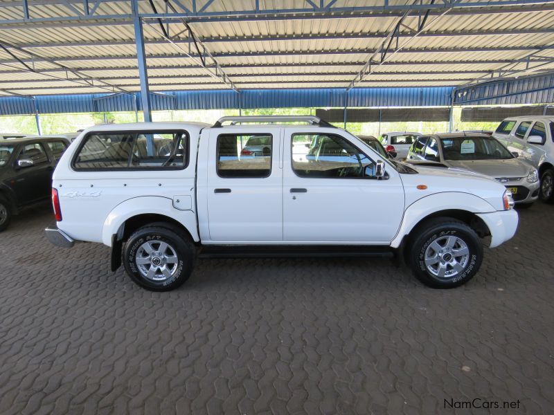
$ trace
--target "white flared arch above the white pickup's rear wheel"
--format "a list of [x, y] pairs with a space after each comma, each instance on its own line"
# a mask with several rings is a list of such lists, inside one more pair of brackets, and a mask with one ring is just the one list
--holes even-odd
[[163, 196], [139, 196], [117, 205], [109, 212], [102, 228], [102, 243], [111, 246], [111, 237], [116, 234], [127, 219], [139, 214], [161, 214], [181, 223], [195, 242], [198, 237], [196, 213], [193, 210], [177, 210], [173, 201]]

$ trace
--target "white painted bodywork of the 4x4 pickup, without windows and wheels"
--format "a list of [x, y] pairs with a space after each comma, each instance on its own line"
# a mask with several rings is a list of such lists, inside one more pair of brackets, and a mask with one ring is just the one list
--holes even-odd
[[[72, 160], [89, 133], [159, 129], [187, 131], [190, 162], [184, 169], [83, 172], [73, 167]], [[269, 176], [218, 176], [215, 143], [218, 136], [231, 133], [271, 134], [274, 151]], [[301, 133], [341, 136], [375, 163], [384, 163], [386, 180], [296, 175], [291, 161], [292, 135]], [[399, 248], [424, 219], [443, 210], [456, 210], [481, 219], [492, 235], [491, 248], [515, 234], [517, 212], [505, 210], [505, 189], [499, 183], [423, 167], [415, 168], [417, 174], [402, 174], [391, 163], [348, 131], [334, 127], [268, 124], [216, 128], [195, 122], [96, 126], [80, 134], [55, 169], [53, 188], [63, 216], [57, 228], [69, 241], [112, 246], [129, 220], [156, 214], [178, 223], [199, 246]], [[420, 190], [421, 185], [425, 189]], [[301, 192], [293, 193], [295, 190]]]

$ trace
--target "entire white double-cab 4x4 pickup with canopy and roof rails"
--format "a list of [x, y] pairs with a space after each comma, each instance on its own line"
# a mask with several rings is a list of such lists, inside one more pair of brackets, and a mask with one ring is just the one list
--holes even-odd
[[390, 253], [453, 288], [479, 270], [481, 239], [499, 246], [518, 222], [496, 181], [397, 163], [317, 117], [91, 127], [52, 192], [51, 242], [104, 243], [112, 270], [152, 291], [183, 284], [199, 256]]

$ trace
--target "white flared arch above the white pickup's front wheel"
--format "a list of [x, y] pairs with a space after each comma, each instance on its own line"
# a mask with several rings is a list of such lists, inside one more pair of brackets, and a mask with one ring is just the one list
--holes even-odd
[[418, 199], [406, 208], [400, 229], [391, 241], [391, 247], [398, 248], [402, 243], [402, 239], [411, 232], [415, 225], [425, 217], [441, 210], [465, 210], [472, 213], [496, 212], [488, 201], [474, 194], [463, 192], [430, 194]]

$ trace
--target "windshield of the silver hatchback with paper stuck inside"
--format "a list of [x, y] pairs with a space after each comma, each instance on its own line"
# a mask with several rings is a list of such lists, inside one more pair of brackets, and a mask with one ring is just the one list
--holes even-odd
[[441, 138], [445, 160], [506, 160], [514, 158], [495, 138]]

